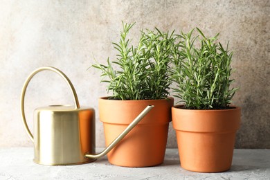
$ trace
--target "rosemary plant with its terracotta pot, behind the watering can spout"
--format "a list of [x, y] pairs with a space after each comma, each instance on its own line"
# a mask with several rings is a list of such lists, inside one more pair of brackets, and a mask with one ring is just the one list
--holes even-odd
[[113, 43], [118, 51], [116, 60], [94, 64], [108, 83], [112, 96], [99, 99], [100, 120], [104, 125], [105, 143], [123, 129], [147, 105], [154, 105], [143, 120], [111, 152], [109, 163], [126, 167], [146, 167], [163, 163], [171, 121], [173, 98], [168, 97], [171, 84], [169, 64], [173, 35], [142, 30], [138, 45], [127, 38], [134, 24], [124, 24], [120, 42]]

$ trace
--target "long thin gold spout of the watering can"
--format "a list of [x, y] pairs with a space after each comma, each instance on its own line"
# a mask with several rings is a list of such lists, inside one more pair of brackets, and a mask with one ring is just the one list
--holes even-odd
[[85, 154], [84, 156], [89, 159], [98, 159], [102, 156], [105, 156], [111, 149], [113, 149], [119, 141], [121, 141], [132, 129], [135, 127], [142, 119], [143, 117], [153, 108], [153, 105], [148, 105], [145, 107], [145, 109], [139, 114], [133, 121], [130, 123], [127, 128], [114, 140], [111, 142], [111, 144], [105, 148], [102, 152], [99, 154]]

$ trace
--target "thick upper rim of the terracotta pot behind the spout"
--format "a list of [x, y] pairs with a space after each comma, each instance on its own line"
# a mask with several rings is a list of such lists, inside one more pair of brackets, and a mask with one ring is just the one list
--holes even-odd
[[[165, 124], [172, 120], [171, 108], [174, 98], [163, 100], [107, 100], [107, 98], [109, 97], [98, 99], [99, 112], [102, 112], [100, 121], [103, 123], [130, 124], [147, 105], [154, 105], [154, 108], [145, 116], [144, 119], [147, 120], [142, 120], [139, 124]], [[108, 114], [105, 111], [111, 112]]]

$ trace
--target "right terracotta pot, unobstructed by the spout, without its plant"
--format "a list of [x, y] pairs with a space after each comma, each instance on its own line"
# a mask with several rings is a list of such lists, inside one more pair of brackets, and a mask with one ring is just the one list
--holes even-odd
[[231, 168], [240, 107], [190, 110], [172, 107], [172, 124], [182, 168], [195, 172], [223, 172]]

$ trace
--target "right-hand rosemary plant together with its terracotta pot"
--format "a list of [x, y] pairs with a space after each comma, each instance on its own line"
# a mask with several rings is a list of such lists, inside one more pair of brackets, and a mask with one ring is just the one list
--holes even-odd
[[[193, 35], [197, 31], [198, 36]], [[230, 105], [232, 53], [199, 28], [178, 35], [172, 80], [174, 97], [183, 105], [172, 107], [181, 166], [195, 172], [222, 172], [231, 168], [240, 107]]]

